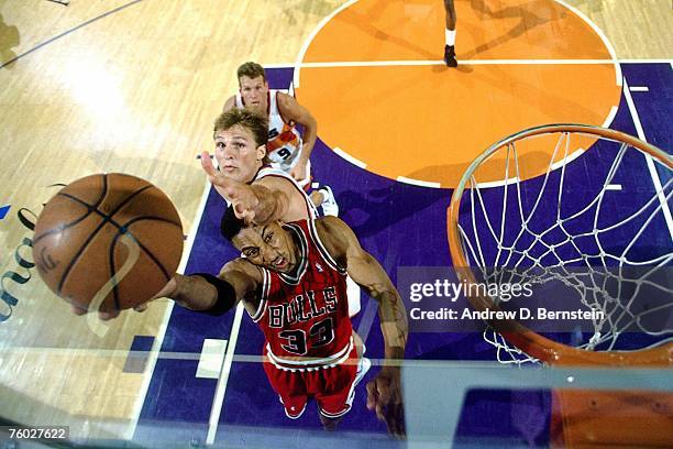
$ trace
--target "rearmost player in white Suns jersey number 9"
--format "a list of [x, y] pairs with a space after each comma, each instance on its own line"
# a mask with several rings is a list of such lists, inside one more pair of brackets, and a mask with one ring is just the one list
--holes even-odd
[[[301, 188], [311, 186], [310, 156], [316, 144], [318, 123], [295, 97], [268, 88], [264, 67], [245, 63], [236, 70], [239, 91], [224, 103], [223, 112], [231, 109], [251, 109], [268, 118], [266, 152], [269, 164], [288, 173]], [[304, 139], [296, 124], [304, 127]], [[329, 186], [311, 193], [311, 200], [321, 206], [324, 215], [339, 215], [339, 206]]]

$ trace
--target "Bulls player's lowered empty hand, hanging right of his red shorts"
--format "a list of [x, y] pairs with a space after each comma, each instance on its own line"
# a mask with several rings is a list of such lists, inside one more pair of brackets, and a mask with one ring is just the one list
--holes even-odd
[[367, 408], [376, 412], [378, 420], [386, 423], [388, 432], [405, 437], [405, 407], [401, 395], [399, 366], [384, 366], [367, 383]]

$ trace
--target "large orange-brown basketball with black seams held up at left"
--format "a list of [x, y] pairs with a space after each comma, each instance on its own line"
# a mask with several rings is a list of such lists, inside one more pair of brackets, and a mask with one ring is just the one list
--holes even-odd
[[78, 179], [45, 205], [33, 258], [46, 285], [90, 311], [132, 308], [170, 280], [183, 253], [183, 226], [151, 183], [112, 173]]

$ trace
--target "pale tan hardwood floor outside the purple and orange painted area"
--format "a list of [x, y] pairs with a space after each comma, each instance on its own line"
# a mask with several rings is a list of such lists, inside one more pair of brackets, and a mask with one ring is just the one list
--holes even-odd
[[[411, 3], [441, 12], [439, 1]], [[459, 11], [486, 3], [507, 21], [512, 20], [508, 8], [521, 2], [456, 0]], [[668, 0], [569, 3], [596, 22], [617, 57], [671, 58], [673, 14]], [[211, 147], [212, 120], [236, 88], [236, 66], [249, 59], [294, 64], [316, 26], [343, 4], [0, 4], [0, 207], [10, 206], [0, 221], [0, 415], [22, 423], [70, 425], [75, 436], [125, 435], [151, 374], [124, 372], [129, 348], [135, 336], [161, 333], [169, 311], [168, 303], [159, 302], [143, 315], [125, 313], [98, 339], [86, 320], [73, 316], [36, 278], [26, 242], [32, 232], [18, 212], [26, 208], [22, 217], [30, 223], [54, 194], [56, 187], [49, 186], [92, 173], [124, 172], [164, 189], [188, 232], [205, 188], [195, 155]], [[555, 3], [528, 4], [549, 9]], [[376, 15], [375, 10], [368, 12]], [[463, 23], [470, 26], [461, 29], [459, 17], [459, 54], [461, 42], [479, 33], [467, 17]], [[527, 35], [522, 30], [521, 39]], [[441, 43], [441, 29], [430, 40]], [[426, 58], [439, 61], [440, 52]]]

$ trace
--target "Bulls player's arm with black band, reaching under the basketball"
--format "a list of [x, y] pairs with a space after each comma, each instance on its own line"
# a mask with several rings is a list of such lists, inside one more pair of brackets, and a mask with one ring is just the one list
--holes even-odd
[[258, 270], [236, 259], [227, 263], [218, 276], [175, 274], [154, 298], [167, 297], [190, 310], [222, 315], [240, 300], [251, 298], [261, 277]]

